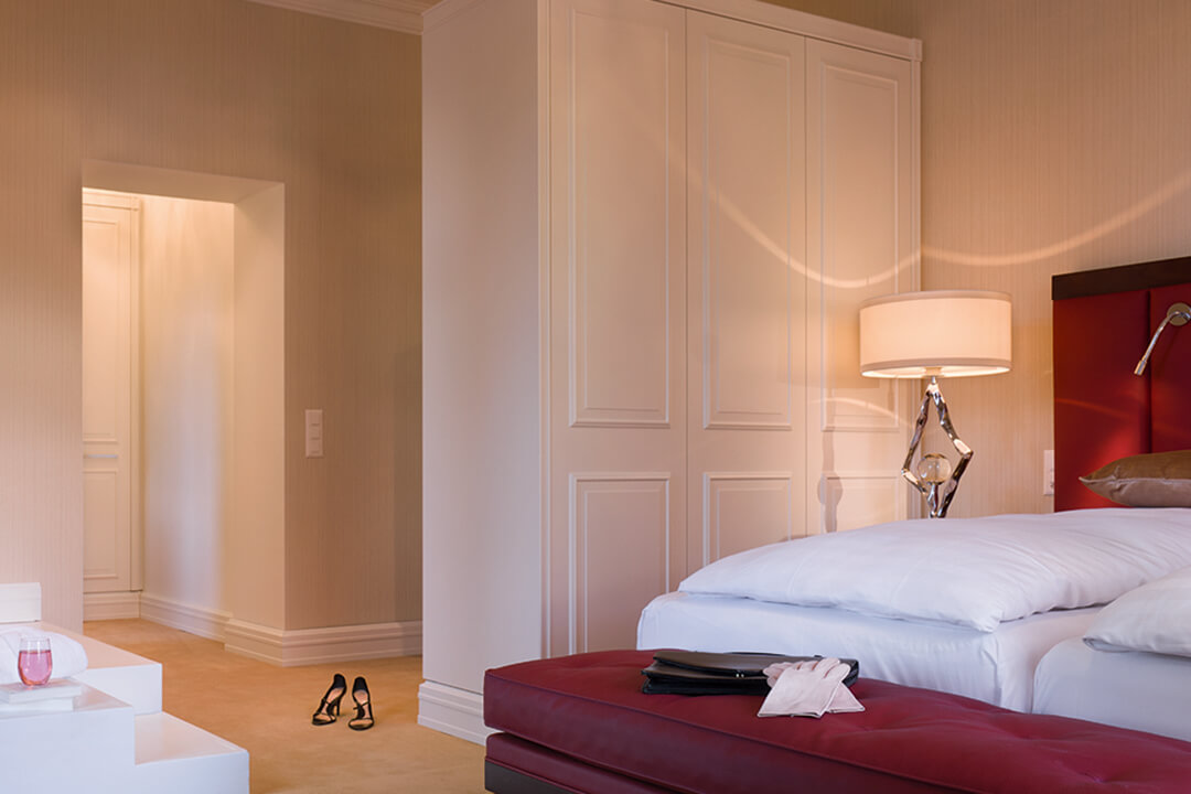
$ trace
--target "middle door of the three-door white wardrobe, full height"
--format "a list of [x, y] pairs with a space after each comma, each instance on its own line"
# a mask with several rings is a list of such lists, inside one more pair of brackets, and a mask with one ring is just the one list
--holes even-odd
[[804, 533], [805, 39], [692, 12], [687, 51], [693, 570]]

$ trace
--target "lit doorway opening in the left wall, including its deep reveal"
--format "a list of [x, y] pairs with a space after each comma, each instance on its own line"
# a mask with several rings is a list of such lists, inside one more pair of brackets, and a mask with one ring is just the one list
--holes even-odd
[[283, 625], [285, 192], [83, 164], [83, 619]]

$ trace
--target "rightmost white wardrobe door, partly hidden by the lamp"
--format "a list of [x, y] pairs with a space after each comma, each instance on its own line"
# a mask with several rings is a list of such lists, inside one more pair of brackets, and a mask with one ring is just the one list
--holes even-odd
[[911, 89], [906, 61], [807, 44], [812, 532], [905, 517], [905, 387], [860, 375], [858, 317], [917, 287]]

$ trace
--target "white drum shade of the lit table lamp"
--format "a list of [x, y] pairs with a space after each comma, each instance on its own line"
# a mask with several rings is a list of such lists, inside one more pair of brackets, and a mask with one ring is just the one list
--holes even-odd
[[1008, 371], [1012, 302], [977, 289], [884, 295], [860, 307], [860, 371], [869, 377], [967, 377]]

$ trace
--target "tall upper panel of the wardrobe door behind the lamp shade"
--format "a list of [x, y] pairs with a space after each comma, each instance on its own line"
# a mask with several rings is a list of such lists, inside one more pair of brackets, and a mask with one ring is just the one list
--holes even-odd
[[860, 305], [910, 287], [910, 64], [812, 42], [812, 342], [822, 430], [897, 431], [891, 382], [860, 375]]

